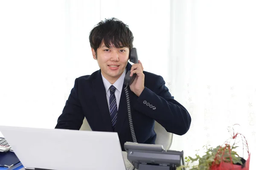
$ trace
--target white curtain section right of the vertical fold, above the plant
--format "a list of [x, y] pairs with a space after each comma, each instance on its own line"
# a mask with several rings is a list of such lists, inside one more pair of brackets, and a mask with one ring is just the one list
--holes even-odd
[[[193, 156], [206, 144], [224, 144], [233, 127], [246, 137], [256, 169], [255, 7], [247, 0], [172, 1], [169, 88], [192, 124], [171, 149]], [[241, 143], [237, 151], [243, 154]]]

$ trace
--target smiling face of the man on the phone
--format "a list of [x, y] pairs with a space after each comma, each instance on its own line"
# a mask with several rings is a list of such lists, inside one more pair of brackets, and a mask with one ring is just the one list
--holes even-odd
[[129, 59], [129, 48], [108, 48], [104, 43], [97, 49], [96, 53], [92, 48], [93, 58], [97, 60], [102, 75], [112, 84], [124, 72]]

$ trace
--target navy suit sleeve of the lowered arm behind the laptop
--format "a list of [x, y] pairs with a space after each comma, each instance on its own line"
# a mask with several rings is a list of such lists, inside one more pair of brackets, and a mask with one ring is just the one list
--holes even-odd
[[79, 130], [84, 120], [81, 103], [78, 97], [78, 79], [70, 92], [66, 105], [59, 116], [56, 129]]

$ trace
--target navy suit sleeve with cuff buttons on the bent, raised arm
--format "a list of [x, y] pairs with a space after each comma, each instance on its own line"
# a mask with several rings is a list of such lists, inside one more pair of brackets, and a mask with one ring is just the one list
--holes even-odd
[[134, 109], [156, 120], [170, 133], [185, 134], [191, 123], [189, 112], [173, 99], [161, 76], [154, 82], [157, 82], [154, 92], [145, 87]]

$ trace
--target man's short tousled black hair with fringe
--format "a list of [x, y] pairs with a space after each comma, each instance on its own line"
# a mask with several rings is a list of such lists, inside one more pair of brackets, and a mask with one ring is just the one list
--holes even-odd
[[110, 48], [111, 45], [116, 48], [127, 47], [133, 48], [133, 34], [128, 26], [116, 18], [105, 19], [99, 22], [90, 31], [89, 35], [90, 46], [97, 52], [102, 42]]

